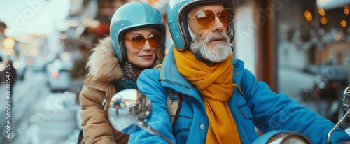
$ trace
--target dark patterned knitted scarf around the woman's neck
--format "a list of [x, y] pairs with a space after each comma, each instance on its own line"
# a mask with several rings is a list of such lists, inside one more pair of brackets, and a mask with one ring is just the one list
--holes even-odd
[[[152, 67], [157, 64], [161, 64], [159, 59], [155, 59]], [[137, 78], [139, 78], [142, 70], [144, 69], [133, 68], [129, 61], [125, 61], [123, 64], [123, 77], [120, 80], [116, 80], [117, 84], [123, 89], [137, 89]]]

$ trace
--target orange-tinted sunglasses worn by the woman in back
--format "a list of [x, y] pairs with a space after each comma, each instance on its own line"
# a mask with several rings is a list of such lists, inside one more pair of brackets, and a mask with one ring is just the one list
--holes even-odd
[[159, 34], [150, 34], [148, 38], [145, 38], [141, 34], [136, 34], [134, 36], [125, 37], [132, 42], [132, 46], [134, 48], [142, 48], [146, 41], [151, 45], [151, 47], [158, 47], [162, 44], [162, 35]]

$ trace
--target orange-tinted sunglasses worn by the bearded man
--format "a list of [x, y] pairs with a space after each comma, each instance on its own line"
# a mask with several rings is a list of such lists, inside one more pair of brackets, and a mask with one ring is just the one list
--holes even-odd
[[206, 29], [214, 24], [216, 16], [223, 24], [227, 25], [235, 20], [235, 11], [232, 8], [225, 8], [216, 15], [216, 13], [211, 10], [200, 10], [196, 13], [195, 17], [191, 17], [188, 20], [195, 19], [197, 24], [200, 24], [201, 27]]

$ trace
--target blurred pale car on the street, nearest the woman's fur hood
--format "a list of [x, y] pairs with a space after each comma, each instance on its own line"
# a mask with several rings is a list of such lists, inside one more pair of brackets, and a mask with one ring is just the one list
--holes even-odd
[[71, 72], [61, 59], [55, 59], [46, 66], [48, 87], [52, 92], [68, 91], [71, 85]]

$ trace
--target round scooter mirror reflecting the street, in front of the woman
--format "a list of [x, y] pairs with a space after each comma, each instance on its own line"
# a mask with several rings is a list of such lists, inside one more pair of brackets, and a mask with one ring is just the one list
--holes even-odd
[[151, 101], [137, 89], [122, 90], [109, 103], [109, 121], [125, 134], [130, 134], [139, 122], [151, 117], [151, 113]]

